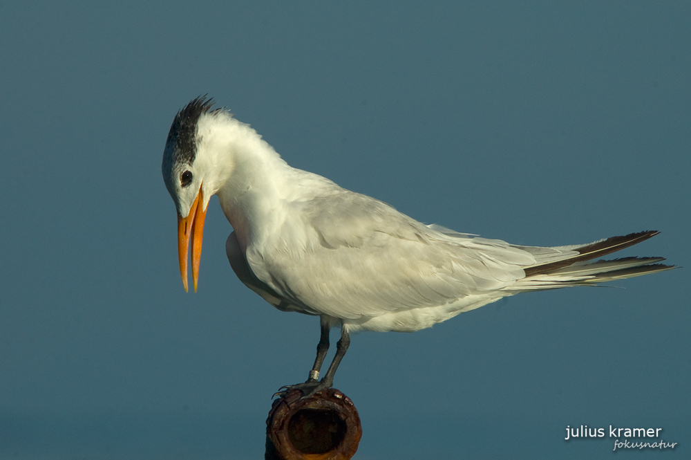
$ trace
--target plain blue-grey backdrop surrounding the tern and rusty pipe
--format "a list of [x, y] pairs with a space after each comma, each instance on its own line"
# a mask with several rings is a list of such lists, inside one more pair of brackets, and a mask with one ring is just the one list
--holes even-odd
[[[0, 458], [258, 459], [316, 318], [234, 276], [211, 201], [197, 294], [160, 163], [209, 93], [294, 167], [512, 243], [654, 229], [688, 265], [688, 2], [3, 2]], [[352, 339], [356, 459], [609, 458], [567, 425], [691, 443], [688, 268]], [[335, 341], [335, 334], [332, 340]], [[330, 358], [328, 358], [330, 359]], [[684, 453], [686, 452], [686, 453]], [[628, 455], [629, 453], [624, 453]]]

